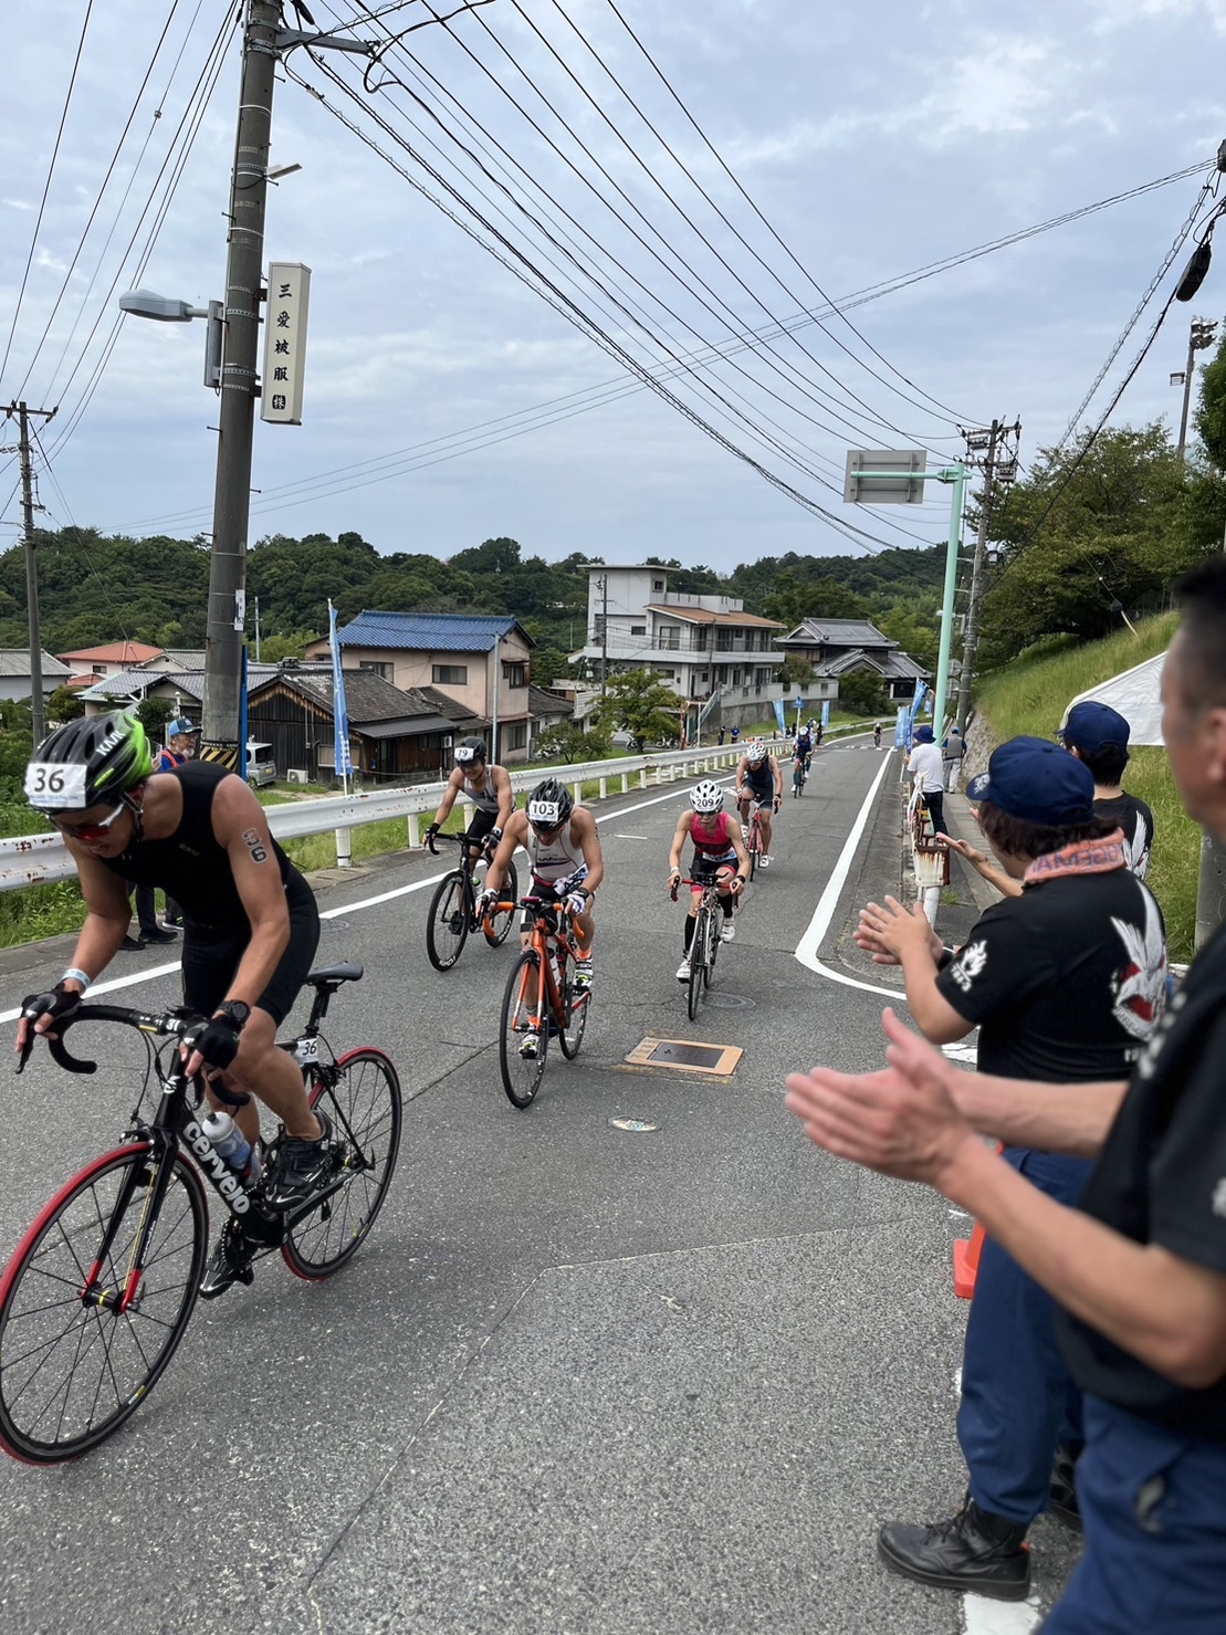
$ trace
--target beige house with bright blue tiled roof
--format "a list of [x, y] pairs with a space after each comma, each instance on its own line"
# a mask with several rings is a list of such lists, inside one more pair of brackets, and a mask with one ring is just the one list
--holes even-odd
[[[492, 613], [363, 610], [337, 631], [343, 670], [373, 670], [394, 687], [433, 687], [489, 723], [490, 755], [528, 759], [528, 682], [535, 643], [517, 618]], [[307, 659], [325, 659], [327, 638]]]

